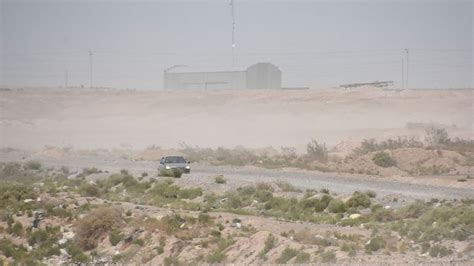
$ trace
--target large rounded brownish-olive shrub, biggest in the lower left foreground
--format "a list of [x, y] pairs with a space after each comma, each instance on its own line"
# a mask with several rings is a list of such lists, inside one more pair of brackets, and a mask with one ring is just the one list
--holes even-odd
[[76, 224], [76, 243], [84, 250], [97, 246], [99, 239], [122, 223], [120, 211], [109, 207], [93, 210]]

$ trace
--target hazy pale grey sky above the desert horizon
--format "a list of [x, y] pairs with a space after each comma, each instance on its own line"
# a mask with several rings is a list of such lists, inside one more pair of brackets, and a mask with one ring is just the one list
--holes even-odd
[[[163, 69], [232, 69], [222, 1], [1, 2], [0, 85], [161, 89]], [[284, 86], [393, 80], [474, 87], [473, 1], [235, 0], [235, 69], [272, 62]], [[405, 62], [406, 67], [406, 62]], [[181, 71], [185, 69], [182, 68]]]

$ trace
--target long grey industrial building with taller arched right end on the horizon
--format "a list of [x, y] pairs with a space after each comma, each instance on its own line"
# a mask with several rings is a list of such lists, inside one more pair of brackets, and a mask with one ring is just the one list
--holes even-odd
[[164, 72], [165, 90], [281, 89], [281, 71], [271, 63], [257, 63], [244, 71]]

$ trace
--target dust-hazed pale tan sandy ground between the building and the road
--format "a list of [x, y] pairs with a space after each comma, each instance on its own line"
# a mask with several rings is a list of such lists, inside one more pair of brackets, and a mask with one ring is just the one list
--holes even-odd
[[[0, 91], [0, 146], [74, 148], [330, 146], [365, 138], [422, 138], [435, 123], [473, 138], [474, 90]], [[344, 142], [343, 142], [344, 144]]]

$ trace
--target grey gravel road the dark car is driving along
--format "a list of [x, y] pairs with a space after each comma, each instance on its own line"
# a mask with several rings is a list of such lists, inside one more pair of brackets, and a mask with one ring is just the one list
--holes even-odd
[[[103, 156], [81, 156], [53, 159], [18, 152], [1, 153], [0, 155], [1, 161], [36, 159], [46, 166], [67, 166], [71, 171], [81, 171], [85, 167], [97, 167], [109, 172], [127, 169], [137, 176], [142, 172], [148, 172], [150, 176], [156, 176], [158, 166], [157, 162], [133, 161], [120, 157], [111, 159]], [[245, 166], [214, 166], [200, 163], [193, 163], [191, 166], [191, 174], [176, 179], [177, 183], [184, 186], [201, 186], [210, 191], [231, 190], [256, 182], [285, 181], [303, 190], [327, 188], [332, 192], [343, 194], [350, 194], [356, 190], [373, 190], [379, 196], [398, 194], [412, 199], [474, 197], [474, 189], [470, 188], [412, 184], [390, 181], [387, 178], [382, 179], [380, 177], [351, 177], [297, 169], [262, 169]], [[224, 186], [217, 185], [214, 182], [214, 177], [220, 174], [223, 174], [227, 179], [227, 184]]]

